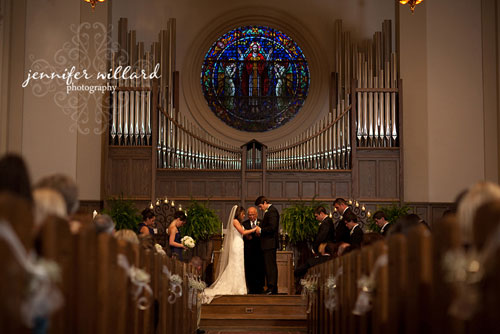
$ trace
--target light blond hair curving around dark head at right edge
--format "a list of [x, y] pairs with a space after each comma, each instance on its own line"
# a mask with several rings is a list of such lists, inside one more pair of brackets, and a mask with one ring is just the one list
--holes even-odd
[[472, 224], [477, 208], [495, 200], [500, 200], [500, 187], [490, 182], [476, 183], [464, 195], [458, 206], [457, 218], [465, 243], [470, 244], [473, 241]]

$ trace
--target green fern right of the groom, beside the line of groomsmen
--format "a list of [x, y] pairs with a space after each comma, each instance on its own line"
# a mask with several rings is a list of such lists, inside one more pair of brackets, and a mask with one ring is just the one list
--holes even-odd
[[319, 205], [323, 204], [314, 200], [309, 205], [297, 202], [283, 210], [281, 224], [283, 230], [288, 233], [291, 244], [314, 241], [319, 228], [319, 222], [314, 217], [314, 209]]

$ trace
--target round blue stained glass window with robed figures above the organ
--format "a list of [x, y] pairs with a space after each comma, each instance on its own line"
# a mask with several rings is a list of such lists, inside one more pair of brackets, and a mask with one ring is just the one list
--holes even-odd
[[263, 132], [291, 120], [309, 89], [300, 47], [264, 26], [233, 29], [208, 50], [201, 88], [217, 117], [241, 131]]

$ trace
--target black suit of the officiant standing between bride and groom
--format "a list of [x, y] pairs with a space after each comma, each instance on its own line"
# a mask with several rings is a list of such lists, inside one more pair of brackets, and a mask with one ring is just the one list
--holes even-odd
[[[260, 223], [260, 220], [257, 220]], [[250, 220], [243, 222], [245, 230], [251, 230]], [[260, 236], [252, 233], [243, 237], [245, 243], [245, 279], [250, 294], [261, 293], [264, 288], [264, 256], [260, 248]]]

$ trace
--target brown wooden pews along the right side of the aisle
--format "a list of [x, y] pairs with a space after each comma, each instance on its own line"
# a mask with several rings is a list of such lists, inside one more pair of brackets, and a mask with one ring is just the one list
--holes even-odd
[[[500, 303], [488, 304], [487, 296], [498, 296], [500, 287], [496, 279], [500, 276], [498, 260], [487, 263], [489, 268], [476, 286], [479, 303], [476, 313], [467, 321], [449, 313], [450, 305], [461, 296], [463, 286], [446, 279], [443, 265], [444, 255], [460, 249], [459, 229], [454, 220], [448, 219], [433, 224], [432, 234], [421, 226], [409, 233], [391, 236], [387, 241], [366, 246], [343, 257], [328, 261], [309, 270], [309, 277], [319, 276], [317, 290], [310, 298], [308, 314], [310, 333], [481, 333], [498, 332], [500, 325]], [[498, 259], [499, 250], [493, 258]], [[360, 284], [363, 275], [373, 273], [375, 263], [382, 256], [388, 263], [381, 265], [373, 275], [373, 288]], [[491, 259], [490, 259], [491, 260]], [[495, 261], [496, 265], [495, 265]], [[480, 264], [485, 265], [484, 263]], [[339, 272], [336, 281], [336, 308], [328, 310], [325, 301], [329, 291], [327, 281]], [[372, 308], [362, 314], [353, 310], [360, 294], [366, 288], [371, 297]], [[470, 291], [469, 291], [470, 292]], [[474, 292], [474, 291], [473, 291]], [[474, 296], [473, 296], [474, 297]], [[491, 298], [490, 298], [491, 299]], [[470, 301], [470, 300], [469, 300]], [[471, 304], [462, 304], [466, 310]], [[461, 312], [459, 310], [459, 312]], [[486, 330], [486, 331], [485, 331]]]

